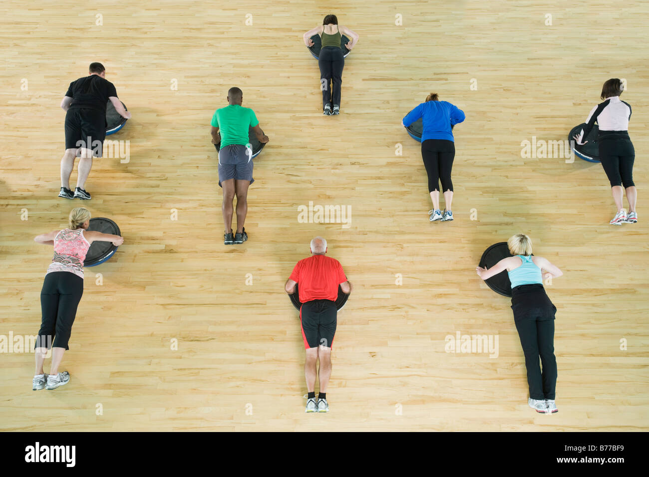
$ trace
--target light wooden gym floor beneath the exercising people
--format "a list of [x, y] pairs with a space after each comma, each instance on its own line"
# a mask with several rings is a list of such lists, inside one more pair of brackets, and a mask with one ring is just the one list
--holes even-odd
[[[32, 238], [73, 206], [114, 219], [125, 243], [86, 269], [66, 387], [32, 391], [32, 354], [0, 354], [2, 430], [646, 430], [648, 5], [27, 5], [0, 7], [0, 335], [38, 331], [51, 248]], [[337, 117], [320, 113], [302, 43], [330, 12], [360, 34]], [[133, 114], [110, 136], [130, 141], [130, 162], [95, 161], [92, 201], [65, 201], [59, 104], [93, 61]], [[565, 140], [610, 77], [626, 79], [633, 106], [637, 225], [608, 225], [600, 165], [521, 157], [522, 141]], [[230, 86], [271, 143], [255, 160], [250, 239], [226, 247], [209, 130]], [[428, 222], [419, 144], [400, 126], [428, 92], [467, 115], [452, 223]], [[351, 206], [350, 227], [299, 223], [309, 202]], [[528, 408], [509, 300], [474, 273], [517, 232], [565, 273], [548, 286], [557, 415]], [[338, 315], [331, 412], [317, 417], [304, 414], [298, 313], [283, 291], [315, 235], [355, 287]], [[498, 357], [445, 352], [457, 332], [498, 336]]]

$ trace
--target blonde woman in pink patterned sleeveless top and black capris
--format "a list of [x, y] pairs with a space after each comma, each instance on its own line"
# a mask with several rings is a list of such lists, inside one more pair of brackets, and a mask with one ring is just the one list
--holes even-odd
[[[67, 384], [70, 374], [58, 372], [63, 353], [69, 349], [67, 342], [77, 315], [77, 306], [83, 295], [83, 262], [93, 241], [107, 241], [121, 245], [118, 235], [88, 231], [90, 212], [77, 207], [70, 212], [68, 228], [41, 234], [34, 238], [38, 243], [54, 245], [54, 258], [47, 268], [41, 291], [42, 323], [36, 339], [36, 374], [33, 389], [55, 389]], [[54, 340], [54, 341], [53, 341]], [[52, 348], [52, 365], [45, 376], [43, 362], [47, 349]]]

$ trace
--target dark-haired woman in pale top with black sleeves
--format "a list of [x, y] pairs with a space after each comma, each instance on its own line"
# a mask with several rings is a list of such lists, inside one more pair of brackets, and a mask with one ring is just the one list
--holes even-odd
[[[583, 138], [588, 136], [595, 121], [597, 121], [599, 127], [597, 143], [600, 161], [609, 182], [611, 182], [611, 192], [613, 193], [615, 206], [617, 206], [617, 214], [611, 220], [613, 225], [634, 224], [638, 221], [638, 215], [635, 212], [637, 191], [635, 190], [635, 184], [633, 184], [635, 150], [628, 132], [631, 106], [624, 101], [620, 101], [620, 95], [623, 91], [624, 84], [619, 79], [611, 78], [607, 80], [602, 86], [601, 95], [602, 99], [606, 101], [591, 110], [591, 114], [586, 119], [586, 127], [582, 129], [580, 134], [574, 136], [574, 140], [578, 144], [584, 144]], [[622, 207], [624, 195], [622, 186], [626, 190], [626, 199], [629, 201], [628, 213]]]

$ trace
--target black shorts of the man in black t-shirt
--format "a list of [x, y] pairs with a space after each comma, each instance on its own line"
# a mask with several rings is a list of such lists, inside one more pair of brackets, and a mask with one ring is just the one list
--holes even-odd
[[106, 113], [97, 109], [71, 108], [66, 113], [66, 149], [91, 149], [101, 157], [106, 138]]

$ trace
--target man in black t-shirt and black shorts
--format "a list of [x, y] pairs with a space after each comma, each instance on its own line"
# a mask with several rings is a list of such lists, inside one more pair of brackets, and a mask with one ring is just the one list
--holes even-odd
[[[65, 199], [90, 199], [84, 190], [92, 169], [92, 158], [101, 157], [106, 138], [106, 104], [110, 100], [118, 114], [129, 119], [130, 112], [117, 98], [112, 82], [106, 80], [101, 63], [90, 64], [89, 76], [70, 83], [61, 107], [66, 111], [66, 153], [61, 159], [61, 191]], [[70, 189], [70, 175], [79, 157], [77, 188]]]

